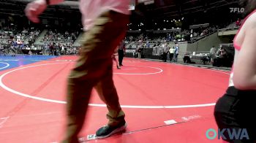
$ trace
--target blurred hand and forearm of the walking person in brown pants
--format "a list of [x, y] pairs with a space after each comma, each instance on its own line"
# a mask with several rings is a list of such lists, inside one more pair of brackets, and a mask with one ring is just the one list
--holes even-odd
[[59, 4], [64, 0], [35, 0], [31, 1], [25, 9], [26, 16], [34, 23], [39, 23], [38, 16], [45, 11], [48, 5]]

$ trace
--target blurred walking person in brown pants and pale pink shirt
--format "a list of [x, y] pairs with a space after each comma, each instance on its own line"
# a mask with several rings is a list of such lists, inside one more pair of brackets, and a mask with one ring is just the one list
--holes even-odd
[[[26, 16], [39, 23], [38, 16], [48, 4], [63, 0], [35, 0], [25, 9]], [[80, 57], [68, 77], [67, 131], [63, 142], [78, 142], [92, 88], [108, 107], [108, 124], [99, 128], [97, 138], [105, 138], [127, 126], [113, 83], [114, 50], [124, 39], [129, 23], [129, 0], [80, 0], [83, 16], [83, 45]], [[104, 50], [102, 50], [104, 49]]]

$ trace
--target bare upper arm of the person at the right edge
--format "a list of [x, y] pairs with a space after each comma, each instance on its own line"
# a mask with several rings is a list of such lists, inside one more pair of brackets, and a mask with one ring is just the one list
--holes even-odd
[[244, 42], [233, 65], [233, 82], [240, 90], [256, 90], [256, 17], [249, 19]]

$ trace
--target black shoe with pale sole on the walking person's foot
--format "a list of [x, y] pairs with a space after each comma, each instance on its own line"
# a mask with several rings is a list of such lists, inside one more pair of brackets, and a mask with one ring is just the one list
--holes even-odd
[[98, 139], [106, 138], [118, 132], [125, 131], [125, 128], [127, 128], [126, 122], [116, 126], [105, 125], [102, 128], [98, 129], [98, 131], [96, 132], [96, 137]]

